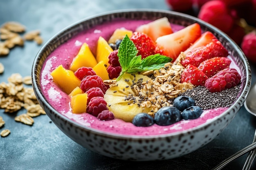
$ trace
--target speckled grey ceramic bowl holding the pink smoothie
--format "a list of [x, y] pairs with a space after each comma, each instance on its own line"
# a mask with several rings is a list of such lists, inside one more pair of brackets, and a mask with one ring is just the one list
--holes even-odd
[[[63, 114], [58, 113], [58, 111], [47, 102], [40, 85], [40, 74], [47, 56], [58, 46], [70, 40], [70, 38], [81, 31], [118, 18], [155, 20], [162, 17], [167, 17], [171, 23], [180, 24], [182, 26], [188, 26], [198, 22], [202, 31], [213, 32], [230, 54], [234, 56], [234, 61], [241, 70], [241, 90], [236, 102], [221, 115], [200, 126], [170, 134], [151, 136], [120, 135], [82, 126]], [[251, 71], [249, 63], [240, 48], [230, 40], [225, 33], [222, 33], [210, 24], [182, 13], [144, 9], [113, 11], [111, 13], [86, 18], [85, 20], [67, 27], [50, 39], [36, 55], [32, 68], [32, 81], [40, 105], [44, 108], [54, 124], [72, 140], [89, 150], [108, 157], [133, 161], [150, 161], [172, 159], [186, 155], [209, 143], [220, 134], [245, 102], [251, 84]]]

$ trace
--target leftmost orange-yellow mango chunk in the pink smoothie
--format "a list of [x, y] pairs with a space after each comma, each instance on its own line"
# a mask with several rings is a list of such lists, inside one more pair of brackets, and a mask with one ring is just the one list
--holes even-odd
[[65, 69], [62, 65], [55, 68], [51, 75], [54, 83], [67, 94], [70, 94], [74, 88], [80, 86], [80, 79], [74, 75], [73, 71]]

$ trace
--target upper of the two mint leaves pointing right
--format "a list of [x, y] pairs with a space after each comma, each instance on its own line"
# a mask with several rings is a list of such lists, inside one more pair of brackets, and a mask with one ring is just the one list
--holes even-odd
[[171, 62], [173, 59], [170, 57], [166, 57], [165, 55], [160, 55], [160, 54], [154, 54], [154, 55], [149, 55], [148, 57], [144, 58], [141, 61], [141, 64], [143, 67], [150, 66], [153, 64], [162, 64], [162, 63], [167, 63]]

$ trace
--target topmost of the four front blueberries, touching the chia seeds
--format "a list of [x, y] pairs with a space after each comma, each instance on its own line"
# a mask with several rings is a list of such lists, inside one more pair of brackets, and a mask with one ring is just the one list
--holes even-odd
[[181, 112], [190, 106], [195, 106], [195, 101], [189, 96], [179, 96], [173, 101], [173, 107], [176, 107]]

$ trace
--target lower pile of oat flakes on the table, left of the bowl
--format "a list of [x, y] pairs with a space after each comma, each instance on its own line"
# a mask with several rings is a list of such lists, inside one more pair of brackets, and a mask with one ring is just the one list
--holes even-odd
[[[31, 85], [31, 83], [31, 76], [22, 77], [19, 73], [13, 73], [8, 78], [8, 83], [0, 83], [0, 108], [4, 109], [5, 113], [16, 113], [18, 110], [25, 108], [27, 113], [16, 116], [14, 120], [27, 125], [34, 123], [32, 117], [46, 114], [38, 104], [33, 88], [26, 86]], [[4, 120], [0, 117], [0, 127], [4, 123]], [[0, 135], [5, 137], [9, 133], [5, 129], [2, 130]]]

